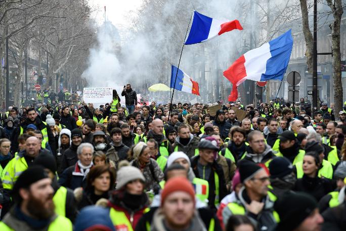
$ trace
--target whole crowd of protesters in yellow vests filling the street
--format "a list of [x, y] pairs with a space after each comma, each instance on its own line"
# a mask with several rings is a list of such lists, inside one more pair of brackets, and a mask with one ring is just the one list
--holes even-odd
[[2, 114], [0, 230], [346, 230], [346, 102], [48, 92]]

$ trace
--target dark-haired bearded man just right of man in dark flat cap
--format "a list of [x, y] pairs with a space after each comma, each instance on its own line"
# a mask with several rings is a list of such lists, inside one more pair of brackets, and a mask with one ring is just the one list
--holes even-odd
[[246, 132], [244, 129], [235, 126], [230, 130], [231, 142], [228, 142], [228, 146], [223, 148], [219, 153], [220, 155], [230, 159], [234, 163], [238, 163], [245, 153], [245, 138]]

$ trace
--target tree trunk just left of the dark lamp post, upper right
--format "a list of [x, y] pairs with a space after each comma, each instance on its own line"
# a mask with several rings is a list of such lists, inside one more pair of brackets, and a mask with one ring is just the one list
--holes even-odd
[[300, 10], [301, 10], [301, 20], [302, 20], [302, 30], [304, 33], [306, 51], [305, 56], [307, 57], [308, 72], [313, 71], [313, 47], [314, 47], [314, 37], [311, 33], [309, 27], [309, 11], [307, 6], [307, 0], [299, 0]]

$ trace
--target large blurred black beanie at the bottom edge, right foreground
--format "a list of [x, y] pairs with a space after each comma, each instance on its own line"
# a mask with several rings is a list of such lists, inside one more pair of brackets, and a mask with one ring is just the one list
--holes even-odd
[[305, 193], [287, 191], [274, 204], [274, 210], [280, 217], [276, 230], [294, 230], [316, 208], [317, 202], [312, 196]]

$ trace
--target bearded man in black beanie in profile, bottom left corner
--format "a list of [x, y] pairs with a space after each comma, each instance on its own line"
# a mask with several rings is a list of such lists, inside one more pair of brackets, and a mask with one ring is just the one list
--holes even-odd
[[40, 166], [24, 171], [12, 191], [15, 205], [0, 222], [0, 230], [72, 230], [68, 218], [55, 214], [51, 184]]

